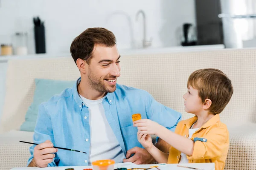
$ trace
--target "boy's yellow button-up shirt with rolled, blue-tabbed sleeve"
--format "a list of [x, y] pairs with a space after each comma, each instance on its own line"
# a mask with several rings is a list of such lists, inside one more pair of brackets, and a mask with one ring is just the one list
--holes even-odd
[[[191, 119], [180, 121], [177, 124], [175, 133], [189, 136], [189, 128], [198, 119], [197, 116]], [[220, 121], [218, 114], [214, 115], [208, 122], [200, 127], [192, 135], [191, 140], [195, 142], [192, 156], [187, 156], [189, 163], [215, 163], [215, 170], [224, 170], [227, 152], [229, 148], [229, 132], [227, 126]], [[174, 147], [169, 149], [168, 164], [178, 164], [180, 151]]]

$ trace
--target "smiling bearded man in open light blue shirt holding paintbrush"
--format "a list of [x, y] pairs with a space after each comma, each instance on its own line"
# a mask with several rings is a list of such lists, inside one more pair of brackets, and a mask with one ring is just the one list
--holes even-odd
[[[114, 34], [88, 28], [70, 47], [81, 77], [73, 87], [39, 106], [29, 167], [90, 165], [113, 159], [116, 163], [149, 164], [153, 157], [137, 140], [131, 115], [140, 113], [174, 131], [180, 113], [160, 104], [146, 91], [118, 85], [120, 54]], [[53, 148], [65, 147], [86, 152]], [[156, 147], [168, 152], [159, 139]]]

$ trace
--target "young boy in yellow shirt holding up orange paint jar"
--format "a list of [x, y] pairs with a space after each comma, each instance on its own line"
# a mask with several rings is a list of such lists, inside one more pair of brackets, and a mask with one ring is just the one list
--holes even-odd
[[[134, 121], [138, 140], [159, 163], [214, 162], [216, 170], [223, 170], [229, 132], [220, 121], [219, 113], [230, 101], [232, 83], [222, 71], [209, 68], [194, 71], [189, 76], [187, 88], [183, 95], [185, 111], [195, 116], [180, 121], [175, 133], [149, 119]], [[169, 154], [152, 144], [151, 134], [171, 145]]]

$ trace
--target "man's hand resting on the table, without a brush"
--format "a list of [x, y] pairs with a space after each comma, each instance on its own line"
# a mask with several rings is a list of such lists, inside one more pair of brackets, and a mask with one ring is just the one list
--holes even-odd
[[[131, 155], [134, 156], [131, 157]], [[134, 147], [127, 151], [126, 158], [123, 162], [133, 162], [134, 164], [152, 164], [155, 159], [151, 156], [146, 149]]]

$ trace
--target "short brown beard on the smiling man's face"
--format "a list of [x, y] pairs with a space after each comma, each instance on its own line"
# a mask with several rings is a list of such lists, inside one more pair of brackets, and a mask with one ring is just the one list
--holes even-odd
[[[116, 77], [111, 77], [111, 78], [116, 78]], [[112, 86], [112, 88], [114, 88], [113, 90], [108, 89], [104, 83], [105, 80], [103, 80], [103, 82], [101, 82], [100, 79], [98, 79], [93, 74], [93, 72], [90, 70], [90, 68], [89, 68], [89, 72], [88, 72], [88, 79], [89, 79], [89, 84], [93, 90], [96, 90], [99, 92], [104, 92], [104, 93], [112, 93], [116, 90], [116, 88], [114, 88], [116, 85]]]

